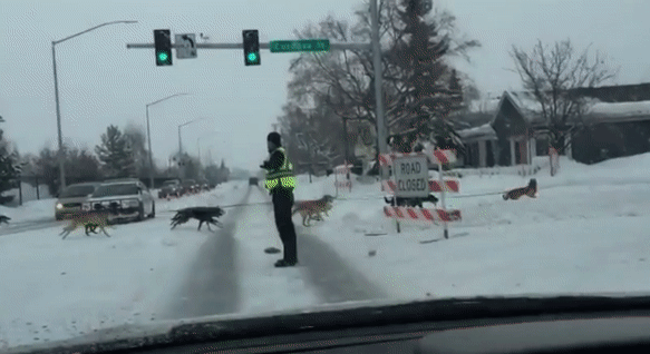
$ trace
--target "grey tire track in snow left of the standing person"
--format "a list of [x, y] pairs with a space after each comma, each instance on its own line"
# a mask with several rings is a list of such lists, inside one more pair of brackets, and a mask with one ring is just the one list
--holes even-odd
[[[250, 194], [249, 188], [241, 203], [245, 203]], [[169, 311], [164, 314], [165, 318], [193, 318], [237, 312], [240, 289], [234, 232], [242, 208], [232, 208], [226, 213], [230, 214], [230, 220], [224, 220], [224, 227], [201, 246], [188, 277], [174, 296]]]

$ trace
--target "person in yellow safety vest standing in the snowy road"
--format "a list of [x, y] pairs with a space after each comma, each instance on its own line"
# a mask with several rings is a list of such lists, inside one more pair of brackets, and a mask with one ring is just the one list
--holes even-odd
[[264, 186], [271, 194], [275, 226], [284, 246], [284, 257], [275, 263], [275, 267], [291, 267], [298, 263], [295, 228], [293, 220], [291, 220], [293, 189], [295, 188], [293, 165], [289, 161], [287, 151], [282, 147], [280, 134], [275, 131], [269, 134], [266, 148], [271, 156], [260, 167], [266, 170]]

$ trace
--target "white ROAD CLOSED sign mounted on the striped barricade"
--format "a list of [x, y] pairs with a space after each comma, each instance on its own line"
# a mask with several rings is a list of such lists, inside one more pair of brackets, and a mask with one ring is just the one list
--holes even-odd
[[398, 157], [392, 160], [395, 195], [402, 198], [429, 195], [429, 170], [426, 156]]

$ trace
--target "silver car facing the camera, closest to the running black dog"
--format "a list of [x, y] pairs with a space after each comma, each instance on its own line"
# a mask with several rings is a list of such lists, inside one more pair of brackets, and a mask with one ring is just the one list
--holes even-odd
[[109, 210], [110, 220], [156, 216], [156, 203], [149, 189], [139, 180], [101, 184], [83, 206], [84, 210]]

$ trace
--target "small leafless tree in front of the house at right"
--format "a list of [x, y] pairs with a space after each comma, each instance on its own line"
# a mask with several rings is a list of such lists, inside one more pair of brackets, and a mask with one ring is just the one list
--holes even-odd
[[537, 104], [535, 111], [547, 129], [550, 146], [562, 154], [569, 146], [566, 137], [585, 127], [590, 100], [578, 89], [596, 87], [617, 72], [608, 68], [598, 51], [590, 60], [589, 47], [576, 56], [569, 39], [552, 47], [539, 40], [530, 53], [513, 46], [511, 56], [516, 67], [513, 71]]

